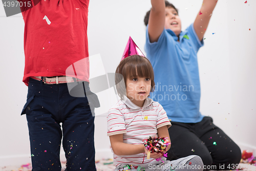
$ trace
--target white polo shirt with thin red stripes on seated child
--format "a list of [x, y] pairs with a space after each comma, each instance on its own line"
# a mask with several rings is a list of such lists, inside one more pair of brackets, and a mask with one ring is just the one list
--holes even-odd
[[[108, 136], [123, 134], [123, 142], [142, 144], [144, 139], [157, 136], [157, 129], [171, 126], [163, 107], [150, 98], [146, 98], [143, 107], [135, 105], [127, 97], [119, 100], [108, 112]], [[113, 150], [112, 150], [113, 152]], [[114, 164], [149, 163], [155, 159], [146, 159], [146, 154], [118, 156], [113, 153]]]

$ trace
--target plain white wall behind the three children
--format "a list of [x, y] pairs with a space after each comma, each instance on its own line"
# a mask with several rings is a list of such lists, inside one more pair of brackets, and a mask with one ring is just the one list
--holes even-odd
[[[256, 155], [256, 1], [244, 2], [219, 1], [212, 14], [205, 45], [198, 53], [200, 110], [203, 115], [211, 116], [242, 149], [254, 150]], [[182, 29], [185, 29], [195, 20], [202, 1], [174, 0], [172, 3], [179, 9]], [[150, 1], [146, 0], [91, 0], [89, 52], [90, 55], [100, 53], [106, 72], [115, 72], [130, 35], [144, 52], [143, 19], [150, 7]], [[30, 162], [26, 116], [20, 116], [27, 96], [27, 87], [22, 82], [22, 15], [6, 17], [0, 5], [0, 31], [0, 166], [19, 165]], [[104, 115], [95, 118], [95, 147], [97, 159], [112, 156]]]

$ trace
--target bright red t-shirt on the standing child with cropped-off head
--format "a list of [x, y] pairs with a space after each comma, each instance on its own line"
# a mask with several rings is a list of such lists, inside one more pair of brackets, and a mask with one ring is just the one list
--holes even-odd
[[89, 81], [88, 6], [89, 0], [41, 0], [22, 12], [26, 85], [32, 76]]

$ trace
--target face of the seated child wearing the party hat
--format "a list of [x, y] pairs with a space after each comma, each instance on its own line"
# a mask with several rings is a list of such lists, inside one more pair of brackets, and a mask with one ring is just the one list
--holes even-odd
[[133, 78], [126, 80], [126, 96], [134, 104], [142, 107], [145, 99], [150, 94], [151, 79], [149, 78]]

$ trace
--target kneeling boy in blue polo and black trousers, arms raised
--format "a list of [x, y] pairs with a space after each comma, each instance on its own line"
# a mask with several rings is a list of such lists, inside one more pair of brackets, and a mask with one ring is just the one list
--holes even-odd
[[[172, 147], [167, 160], [198, 155], [204, 165], [217, 169], [224, 164], [238, 164], [241, 150], [210, 117], [201, 115], [200, 80], [197, 52], [218, 0], [204, 0], [196, 20], [181, 31], [178, 10], [164, 0], [151, 0], [147, 12], [145, 51], [155, 72], [158, 101], [172, 119], [169, 135]], [[218, 146], [212, 145], [218, 141]], [[223, 168], [222, 168], [223, 169]]]

